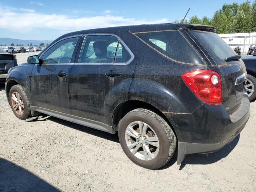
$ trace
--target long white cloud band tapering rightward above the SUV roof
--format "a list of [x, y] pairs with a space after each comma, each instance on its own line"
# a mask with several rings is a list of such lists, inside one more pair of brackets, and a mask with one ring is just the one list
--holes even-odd
[[19, 10], [6, 9], [0, 6], [0, 28], [20, 32], [37, 29], [54, 29], [70, 32], [91, 28], [169, 22], [166, 18], [146, 20], [111, 15], [74, 18], [64, 14], [41, 14], [31, 10], [28, 12], [18, 12]]

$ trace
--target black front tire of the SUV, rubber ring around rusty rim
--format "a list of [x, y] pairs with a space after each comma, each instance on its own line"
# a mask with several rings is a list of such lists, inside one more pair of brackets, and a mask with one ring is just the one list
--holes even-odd
[[[12, 94], [13, 92], [18, 92], [18, 94], [20, 94], [22, 101], [24, 103], [24, 112], [22, 115], [18, 115], [15, 111], [14, 108], [12, 107]], [[10, 89], [10, 93], [9, 93], [9, 103], [11, 105], [12, 108], [12, 112], [15, 114], [16, 117], [18, 117], [21, 120], [26, 120], [27, 118], [30, 118], [31, 112], [30, 112], [30, 103], [28, 100], [28, 97], [24, 91], [24, 89], [22, 88], [22, 86], [20, 85], [14, 85], [12, 86], [12, 88]]]

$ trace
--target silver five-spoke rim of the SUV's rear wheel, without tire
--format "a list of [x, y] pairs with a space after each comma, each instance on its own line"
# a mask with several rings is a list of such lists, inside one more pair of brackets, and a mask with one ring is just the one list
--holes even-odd
[[158, 136], [153, 128], [142, 121], [135, 121], [127, 126], [125, 140], [130, 152], [140, 160], [149, 161], [158, 155]]

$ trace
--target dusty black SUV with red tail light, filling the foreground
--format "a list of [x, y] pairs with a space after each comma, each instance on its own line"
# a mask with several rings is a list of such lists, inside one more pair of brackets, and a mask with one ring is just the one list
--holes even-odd
[[248, 121], [246, 70], [215, 28], [151, 24], [72, 32], [12, 68], [6, 95], [25, 120], [40, 113], [118, 132], [125, 154], [160, 168], [178, 148], [214, 152]]

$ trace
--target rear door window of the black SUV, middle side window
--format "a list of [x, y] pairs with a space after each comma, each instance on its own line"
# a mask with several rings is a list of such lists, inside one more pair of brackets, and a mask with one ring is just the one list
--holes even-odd
[[80, 63], [125, 63], [130, 57], [114, 36], [87, 36], [80, 54]]

